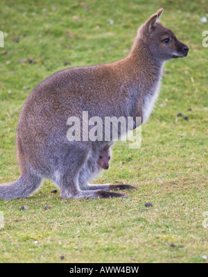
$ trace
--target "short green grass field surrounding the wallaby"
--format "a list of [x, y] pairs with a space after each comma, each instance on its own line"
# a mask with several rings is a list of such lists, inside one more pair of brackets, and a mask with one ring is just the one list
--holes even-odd
[[[202, 47], [202, 32], [208, 23], [200, 22], [208, 17], [207, 0], [3, 0], [0, 5], [0, 30], [6, 35], [0, 49], [0, 183], [19, 176], [19, 113], [44, 78], [67, 67], [124, 58], [137, 28], [161, 7], [161, 23], [190, 48], [187, 58], [164, 67], [141, 147], [115, 144], [110, 169], [96, 179], [137, 190], [125, 191], [128, 199], [60, 200], [46, 180], [28, 199], [0, 200], [5, 223], [0, 262], [207, 262], [208, 228], [202, 222], [208, 211], [208, 48]], [[146, 202], [153, 206], [146, 208]], [[19, 210], [22, 205], [29, 210]], [[51, 209], [44, 210], [46, 205]]]

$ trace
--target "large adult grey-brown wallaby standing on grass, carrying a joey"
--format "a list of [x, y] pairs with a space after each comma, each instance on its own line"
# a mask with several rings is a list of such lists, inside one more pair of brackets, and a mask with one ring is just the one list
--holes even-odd
[[98, 173], [97, 158], [112, 141], [69, 141], [67, 119], [83, 111], [89, 117], [141, 117], [145, 122], [159, 93], [166, 60], [187, 56], [189, 47], [159, 24], [162, 9], [137, 32], [126, 58], [57, 72], [37, 85], [26, 99], [17, 126], [17, 157], [21, 175], [0, 185], [0, 199], [30, 196], [50, 178], [61, 198], [125, 197], [109, 192], [131, 185], [90, 185]]

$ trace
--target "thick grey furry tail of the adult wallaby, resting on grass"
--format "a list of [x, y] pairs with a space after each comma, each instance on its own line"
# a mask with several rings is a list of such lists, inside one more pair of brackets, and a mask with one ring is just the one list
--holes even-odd
[[0, 184], [0, 199], [17, 199], [30, 196], [40, 186], [42, 178], [31, 174], [19, 176], [13, 183]]

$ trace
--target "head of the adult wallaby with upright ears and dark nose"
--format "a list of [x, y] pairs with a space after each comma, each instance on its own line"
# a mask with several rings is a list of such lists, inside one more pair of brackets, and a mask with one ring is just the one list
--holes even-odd
[[144, 40], [150, 53], [157, 60], [165, 61], [171, 58], [183, 58], [188, 55], [189, 47], [180, 42], [174, 33], [159, 24], [163, 9], [157, 10], [138, 30], [139, 38]]

